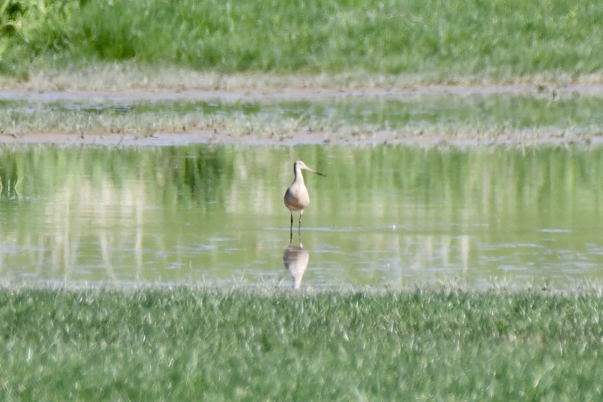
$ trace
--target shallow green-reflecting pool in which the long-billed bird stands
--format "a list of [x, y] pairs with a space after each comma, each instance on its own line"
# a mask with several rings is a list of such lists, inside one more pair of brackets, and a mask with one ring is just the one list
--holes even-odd
[[[302, 288], [563, 289], [603, 281], [603, 148], [0, 152], [5, 283], [289, 287], [295, 275]], [[288, 248], [282, 199], [295, 159], [327, 175], [305, 174], [303, 250], [297, 230]]]

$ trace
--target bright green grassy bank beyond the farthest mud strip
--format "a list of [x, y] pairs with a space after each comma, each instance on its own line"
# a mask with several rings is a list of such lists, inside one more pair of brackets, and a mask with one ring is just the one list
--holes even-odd
[[456, 77], [599, 74], [603, 4], [8, 0], [0, 71], [134, 61], [195, 71]]

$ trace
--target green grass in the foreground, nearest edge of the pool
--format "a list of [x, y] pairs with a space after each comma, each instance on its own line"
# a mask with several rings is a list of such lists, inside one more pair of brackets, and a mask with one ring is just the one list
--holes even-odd
[[600, 400], [603, 298], [2, 289], [3, 400]]

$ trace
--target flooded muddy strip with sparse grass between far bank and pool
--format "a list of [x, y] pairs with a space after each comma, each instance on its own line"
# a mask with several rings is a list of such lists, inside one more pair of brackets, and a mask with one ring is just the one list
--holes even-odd
[[[231, 99], [215, 93], [214, 98], [206, 94], [203, 99], [160, 100], [151, 95], [148, 99], [90, 95], [88, 100], [45, 94], [24, 99], [26, 94], [21, 95], [0, 91], [1, 143], [90, 143], [105, 136], [117, 136], [109, 143], [119, 145], [360, 145], [408, 143], [408, 139], [421, 144], [460, 140], [490, 145], [603, 140], [600, 93], [331, 93], [297, 99], [262, 98], [260, 94]], [[53, 141], [55, 134], [75, 135]], [[98, 142], [107, 144], [107, 140]]]

